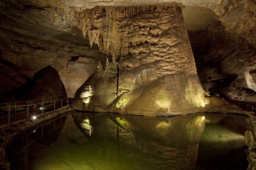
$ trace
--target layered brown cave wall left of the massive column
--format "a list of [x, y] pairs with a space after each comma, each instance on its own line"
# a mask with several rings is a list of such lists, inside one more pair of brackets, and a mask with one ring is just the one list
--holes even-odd
[[1, 58], [19, 66], [32, 78], [52, 65], [59, 72], [67, 94], [75, 91], [96, 69], [105, 55], [90, 47], [76, 28], [74, 8], [58, 1], [1, 0]]

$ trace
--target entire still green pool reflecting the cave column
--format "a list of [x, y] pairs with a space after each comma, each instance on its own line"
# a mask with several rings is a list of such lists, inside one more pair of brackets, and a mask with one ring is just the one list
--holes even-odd
[[8, 156], [11, 170], [243, 170], [250, 128], [223, 114], [74, 112], [32, 129]]

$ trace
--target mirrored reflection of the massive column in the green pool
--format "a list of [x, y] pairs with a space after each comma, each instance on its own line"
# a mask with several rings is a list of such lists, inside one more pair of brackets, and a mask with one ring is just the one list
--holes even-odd
[[[205, 117], [138, 117], [118, 114], [73, 114], [79, 129], [108, 160], [137, 169], [194, 169]], [[88, 124], [88, 125], [84, 125]], [[88, 133], [87, 127], [93, 129]], [[132, 167], [130, 167], [132, 168]]]

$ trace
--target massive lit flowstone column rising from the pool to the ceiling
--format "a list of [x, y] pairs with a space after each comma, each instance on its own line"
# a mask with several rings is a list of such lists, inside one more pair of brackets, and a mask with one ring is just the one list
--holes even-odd
[[155, 115], [224, 104], [202, 89], [179, 4], [96, 6], [76, 20], [110, 57], [76, 91], [74, 109]]

